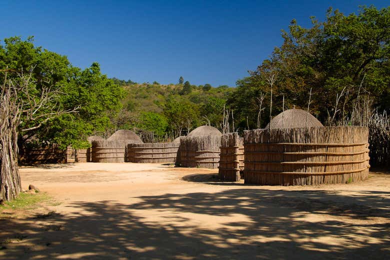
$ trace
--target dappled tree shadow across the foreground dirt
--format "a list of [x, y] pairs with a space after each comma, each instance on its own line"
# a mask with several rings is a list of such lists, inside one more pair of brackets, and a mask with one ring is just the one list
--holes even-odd
[[77, 202], [74, 214], [1, 221], [1, 240], [19, 240], [0, 245], [0, 258], [386, 259], [390, 193], [356, 194], [242, 188]]

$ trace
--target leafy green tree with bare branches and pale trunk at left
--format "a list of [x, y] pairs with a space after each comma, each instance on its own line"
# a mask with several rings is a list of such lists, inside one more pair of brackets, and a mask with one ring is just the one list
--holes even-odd
[[86, 136], [108, 126], [106, 109], [117, 110], [124, 93], [97, 63], [81, 71], [32, 40], [11, 37], [0, 45], [0, 201], [21, 189], [18, 135], [86, 147]]

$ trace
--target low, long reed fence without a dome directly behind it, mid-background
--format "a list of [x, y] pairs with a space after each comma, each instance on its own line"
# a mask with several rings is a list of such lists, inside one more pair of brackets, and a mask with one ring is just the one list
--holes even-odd
[[175, 163], [179, 143], [128, 144], [127, 156], [131, 163]]

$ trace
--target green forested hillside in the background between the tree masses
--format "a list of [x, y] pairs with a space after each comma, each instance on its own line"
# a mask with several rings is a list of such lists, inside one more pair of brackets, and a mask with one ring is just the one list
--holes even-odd
[[223, 108], [235, 88], [191, 85], [188, 81], [161, 85], [114, 79], [126, 91], [116, 128], [131, 129], [162, 140], [185, 135], [200, 125], [221, 128]]

